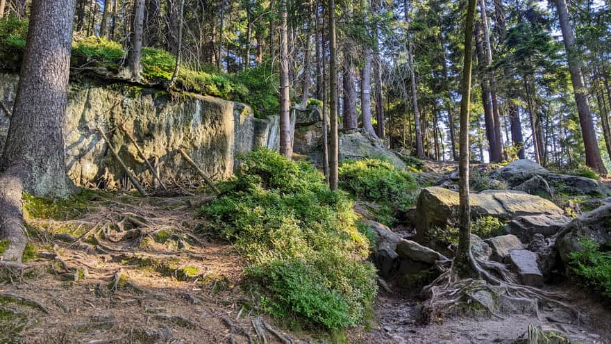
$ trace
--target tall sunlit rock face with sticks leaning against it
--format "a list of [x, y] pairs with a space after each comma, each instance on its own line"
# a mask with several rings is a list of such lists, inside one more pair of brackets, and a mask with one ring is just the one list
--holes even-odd
[[[0, 99], [11, 106], [18, 76], [0, 74], [0, 80]], [[70, 86], [64, 126], [68, 174], [74, 183], [121, 183], [124, 172], [96, 130], [100, 125], [111, 131], [119, 123], [147, 158], [157, 159], [162, 178], [199, 178], [177, 154], [178, 147], [184, 147], [208, 176], [224, 179], [233, 173], [236, 154], [278, 146], [277, 117], [257, 119], [244, 104], [198, 95], [171, 101], [159, 90], [85, 80]], [[7, 131], [8, 120], [0, 115], [0, 142]], [[151, 181], [124, 133], [115, 130], [108, 136], [126, 165], [145, 182]]]

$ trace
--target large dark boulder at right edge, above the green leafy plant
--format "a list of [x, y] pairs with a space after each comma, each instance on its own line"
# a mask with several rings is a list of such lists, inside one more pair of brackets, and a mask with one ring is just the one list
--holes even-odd
[[581, 238], [591, 238], [602, 247], [611, 248], [611, 204], [583, 213], [560, 229], [556, 249], [564, 263], [569, 253], [582, 248]]

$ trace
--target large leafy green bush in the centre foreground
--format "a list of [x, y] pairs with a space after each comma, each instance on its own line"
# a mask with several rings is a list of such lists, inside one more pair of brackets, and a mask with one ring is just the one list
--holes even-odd
[[260, 149], [242, 158], [224, 194], [201, 208], [210, 227], [246, 254], [246, 275], [269, 313], [338, 329], [357, 324], [376, 293], [369, 240], [353, 204], [324, 176]]

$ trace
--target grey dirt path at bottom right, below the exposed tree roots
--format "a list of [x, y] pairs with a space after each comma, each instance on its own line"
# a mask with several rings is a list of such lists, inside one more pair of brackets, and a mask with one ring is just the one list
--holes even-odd
[[611, 343], [608, 326], [611, 312], [600, 300], [592, 300], [584, 290], [555, 288], [554, 291], [566, 295], [571, 304], [578, 307], [583, 317], [580, 324], [569, 323], [564, 317], [553, 316], [553, 312], [542, 311], [542, 319], [534, 314], [510, 314], [503, 319], [446, 318], [443, 322], [423, 326], [417, 324], [417, 297], [385, 293], [376, 301], [378, 325], [365, 333], [363, 341], [379, 344], [513, 343], [524, 335], [529, 324], [533, 324], [567, 333], [571, 343]]

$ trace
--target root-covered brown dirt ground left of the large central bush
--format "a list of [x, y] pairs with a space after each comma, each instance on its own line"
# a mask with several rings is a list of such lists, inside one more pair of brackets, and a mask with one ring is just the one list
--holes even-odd
[[0, 275], [0, 343], [281, 343], [239, 286], [240, 255], [198, 230], [205, 199], [112, 195], [28, 219], [35, 258]]

